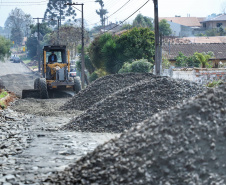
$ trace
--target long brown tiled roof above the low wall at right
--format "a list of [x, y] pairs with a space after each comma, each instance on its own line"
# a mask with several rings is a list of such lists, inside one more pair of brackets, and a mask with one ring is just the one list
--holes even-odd
[[217, 59], [226, 59], [226, 43], [211, 44], [166, 44], [162, 46], [163, 53], [169, 54], [169, 59], [175, 59], [179, 52], [192, 56], [195, 52], [212, 51]]

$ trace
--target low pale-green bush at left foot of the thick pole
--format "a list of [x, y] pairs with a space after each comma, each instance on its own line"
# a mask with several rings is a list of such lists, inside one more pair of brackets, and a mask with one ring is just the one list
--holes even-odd
[[119, 73], [149, 73], [153, 64], [148, 62], [147, 59], [141, 59], [132, 63], [124, 63]]

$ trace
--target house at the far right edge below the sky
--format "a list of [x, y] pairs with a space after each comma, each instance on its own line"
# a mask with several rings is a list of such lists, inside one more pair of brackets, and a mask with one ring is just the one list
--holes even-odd
[[203, 27], [205, 29], [214, 29], [214, 28], [220, 28], [220, 26], [223, 26], [223, 28], [226, 28], [226, 14], [218, 15], [214, 18], [207, 19], [201, 21]]

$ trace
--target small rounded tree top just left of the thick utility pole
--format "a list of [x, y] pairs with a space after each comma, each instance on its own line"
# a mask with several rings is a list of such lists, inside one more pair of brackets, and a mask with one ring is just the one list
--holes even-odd
[[147, 16], [143, 16], [142, 14], [138, 14], [136, 18], [133, 20], [133, 27], [143, 27], [150, 28], [154, 30], [153, 19]]

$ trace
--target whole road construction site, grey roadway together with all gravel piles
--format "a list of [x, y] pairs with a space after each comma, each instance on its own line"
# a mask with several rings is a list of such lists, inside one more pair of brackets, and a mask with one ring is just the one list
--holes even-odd
[[[3, 69], [18, 97], [33, 88], [22, 63]], [[225, 184], [225, 88], [131, 73], [18, 98], [0, 113], [0, 183]]]

